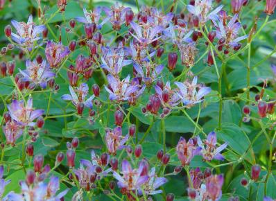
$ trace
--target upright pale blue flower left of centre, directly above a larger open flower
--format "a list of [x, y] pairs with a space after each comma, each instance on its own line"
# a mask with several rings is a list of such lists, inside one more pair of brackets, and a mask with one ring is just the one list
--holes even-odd
[[125, 51], [121, 48], [103, 48], [101, 67], [106, 69], [113, 76], [117, 76], [123, 67], [132, 63], [132, 60], [124, 59]]

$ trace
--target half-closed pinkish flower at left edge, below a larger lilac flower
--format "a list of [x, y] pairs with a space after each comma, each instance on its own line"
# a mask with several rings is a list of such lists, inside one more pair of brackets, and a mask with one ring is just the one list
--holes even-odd
[[15, 146], [15, 142], [23, 133], [23, 128], [22, 125], [16, 121], [8, 121], [6, 125], [3, 126], [3, 133], [6, 137], [6, 144]]

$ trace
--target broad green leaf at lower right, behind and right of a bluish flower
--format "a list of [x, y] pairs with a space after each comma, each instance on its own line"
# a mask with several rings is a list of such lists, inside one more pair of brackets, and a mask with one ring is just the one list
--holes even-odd
[[[228, 148], [243, 156], [251, 164], [255, 164], [255, 155], [248, 136], [234, 123], [223, 123], [221, 131], [217, 132], [217, 137], [228, 143]], [[247, 153], [245, 153], [247, 151]]]

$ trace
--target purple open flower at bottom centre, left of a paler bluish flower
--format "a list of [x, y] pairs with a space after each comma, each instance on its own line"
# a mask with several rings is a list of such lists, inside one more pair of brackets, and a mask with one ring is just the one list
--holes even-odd
[[121, 175], [117, 172], [113, 172], [113, 177], [118, 180], [117, 184], [119, 188], [132, 191], [140, 189], [142, 184], [148, 181], [147, 173], [144, 173], [146, 163], [139, 163], [139, 167], [132, 169], [130, 163], [124, 159], [122, 161]]

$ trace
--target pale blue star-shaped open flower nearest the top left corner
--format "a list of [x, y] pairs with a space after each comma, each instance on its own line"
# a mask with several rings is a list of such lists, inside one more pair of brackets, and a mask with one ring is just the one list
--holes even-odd
[[28, 17], [28, 22], [11, 21], [12, 26], [15, 27], [17, 33], [12, 33], [12, 40], [24, 48], [32, 49], [33, 43], [40, 40], [40, 33], [44, 30], [45, 26], [35, 26], [33, 22], [33, 15]]

